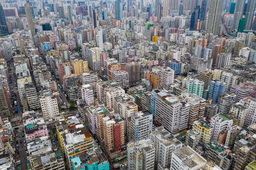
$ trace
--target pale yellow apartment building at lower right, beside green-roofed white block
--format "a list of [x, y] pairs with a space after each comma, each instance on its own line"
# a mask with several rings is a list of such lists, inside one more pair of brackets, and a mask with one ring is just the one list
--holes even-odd
[[200, 139], [206, 144], [211, 141], [212, 127], [210, 127], [204, 120], [194, 122], [192, 130], [198, 132]]

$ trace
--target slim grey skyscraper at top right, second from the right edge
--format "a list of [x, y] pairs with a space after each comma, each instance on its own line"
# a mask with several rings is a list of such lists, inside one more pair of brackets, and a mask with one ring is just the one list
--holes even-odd
[[232, 29], [237, 30], [239, 20], [243, 17], [244, 4], [245, 4], [245, 0], [236, 1], [236, 8], [234, 13]]

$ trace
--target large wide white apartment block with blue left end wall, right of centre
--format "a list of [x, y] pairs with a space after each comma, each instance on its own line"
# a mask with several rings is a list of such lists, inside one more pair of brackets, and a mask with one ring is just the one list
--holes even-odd
[[189, 104], [164, 91], [153, 90], [150, 110], [156, 120], [169, 132], [175, 133], [188, 127]]

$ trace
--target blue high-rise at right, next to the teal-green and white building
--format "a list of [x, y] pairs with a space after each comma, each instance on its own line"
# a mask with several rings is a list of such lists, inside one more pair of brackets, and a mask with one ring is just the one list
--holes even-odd
[[212, 103], [218, 103], [221, 94], [225, 94], [226, 83], [218, 80], [211, 80], [208, 98], [212, 99]]

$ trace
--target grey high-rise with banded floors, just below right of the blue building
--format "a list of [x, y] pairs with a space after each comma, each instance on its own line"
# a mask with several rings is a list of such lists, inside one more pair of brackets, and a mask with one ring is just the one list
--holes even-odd
[[227, 115], [230, 111], [230, 107], [236, 101], [236, 94], [221, 94], [218, 101], [218, 113]]

